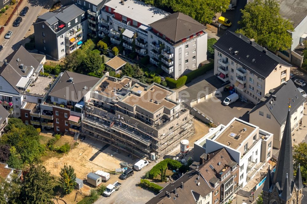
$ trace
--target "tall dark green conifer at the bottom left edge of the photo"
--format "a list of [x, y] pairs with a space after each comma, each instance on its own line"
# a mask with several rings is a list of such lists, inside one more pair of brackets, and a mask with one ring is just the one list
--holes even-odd
[[30, 164], [29, 173], [25, 175], [21, 187], [20, 200], [25, 204], [52, 204], [52, 183], [50, 172], [46, 171], [41, 161], [35, 159]]

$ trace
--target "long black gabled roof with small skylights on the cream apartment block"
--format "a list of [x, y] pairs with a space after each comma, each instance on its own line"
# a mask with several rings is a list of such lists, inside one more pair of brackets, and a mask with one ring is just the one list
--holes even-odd
[[[251, 45], [250, 39], [242, 34], [230, 31], [226, 31], [213, 47], [262, 79], [268, 77], [278, 64], [292, 66], [270, 51], [265, 54], [262, 46], [255, 42]], [[238, 53], [235, 54], [235, 51]]]

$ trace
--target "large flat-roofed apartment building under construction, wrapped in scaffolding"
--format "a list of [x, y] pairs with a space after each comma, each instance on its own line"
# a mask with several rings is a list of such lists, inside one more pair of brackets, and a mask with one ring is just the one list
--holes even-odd
[[127, 156], [165, 155], [194, 134], [194, 117], [158, 84], [105, 75], [85, 97], [82, 134]]

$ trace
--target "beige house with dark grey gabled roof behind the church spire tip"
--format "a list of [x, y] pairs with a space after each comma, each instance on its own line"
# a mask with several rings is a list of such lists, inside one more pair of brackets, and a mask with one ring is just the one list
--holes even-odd
[[297, 90], [292, 80], [284, 82], [266, 94], [249, 112], [249, 122], [274, 134], [273, 147], [280, 148], [284, 132], [287, 106], [291, 104], [291, 133], [303, 123], [305, 98]]

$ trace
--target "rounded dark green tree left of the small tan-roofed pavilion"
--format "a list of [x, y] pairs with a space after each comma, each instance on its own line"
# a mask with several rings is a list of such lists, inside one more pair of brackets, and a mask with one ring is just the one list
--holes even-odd
[[83, 74], [99, 71], [102, 68], [102, 59], [100, 57], [100, 52], [97, 53], [96, 50], [90, 51], [87, 57], [84, 59], [83, 63]]

